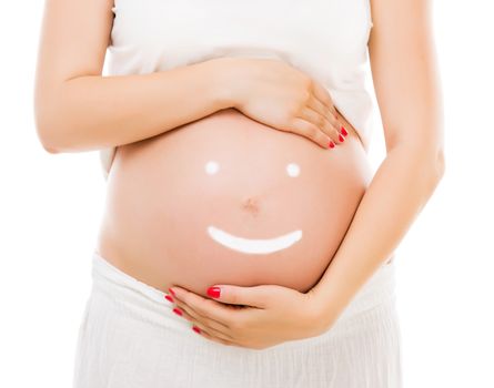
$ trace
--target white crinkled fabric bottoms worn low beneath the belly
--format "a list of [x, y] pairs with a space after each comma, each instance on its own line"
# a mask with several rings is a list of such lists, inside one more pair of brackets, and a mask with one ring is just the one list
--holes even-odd
[[256, 350], [198, 335], [162, 292], [94, 253], [73, 387], [400, 388], [394, 263], [377, 269], [323, 335]]

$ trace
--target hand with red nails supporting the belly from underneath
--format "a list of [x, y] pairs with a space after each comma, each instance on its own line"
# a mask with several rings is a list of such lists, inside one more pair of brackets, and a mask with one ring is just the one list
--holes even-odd
[[303, 294], [278, 285], [218, 285], [208, 295], [215, 294], [211, 289], [220, 289], [220, 296], [210, 299], [179, 286], [169, 288], [181, 316], [200, 335], [223, 345], [264, 349], [321, 335], [333, 323], [312, 289]]

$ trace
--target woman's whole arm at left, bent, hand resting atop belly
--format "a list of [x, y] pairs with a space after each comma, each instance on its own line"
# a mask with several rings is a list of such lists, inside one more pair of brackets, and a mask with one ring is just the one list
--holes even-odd
[[[230, 106], [322, 147], [330, 140], [341, 143], [330, 94], [281, 61], [216, 59], [151, 74], [102, 76], [112, 6], [110, 0], [46, 2], [34, 108], [47, 151], [129, 144]], [[249, 79], [249, 89], [239, 82], [232, 88], [239, 73]]]

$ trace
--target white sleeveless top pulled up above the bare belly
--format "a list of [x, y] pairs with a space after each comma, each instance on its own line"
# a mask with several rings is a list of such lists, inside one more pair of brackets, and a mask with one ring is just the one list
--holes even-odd
[[[326, 88], [367, 151], [370, 1], [114, 0], [109, 75], [218, 57], [281, 59]], [[114, 150], [100, 151], [105, 177]]]

